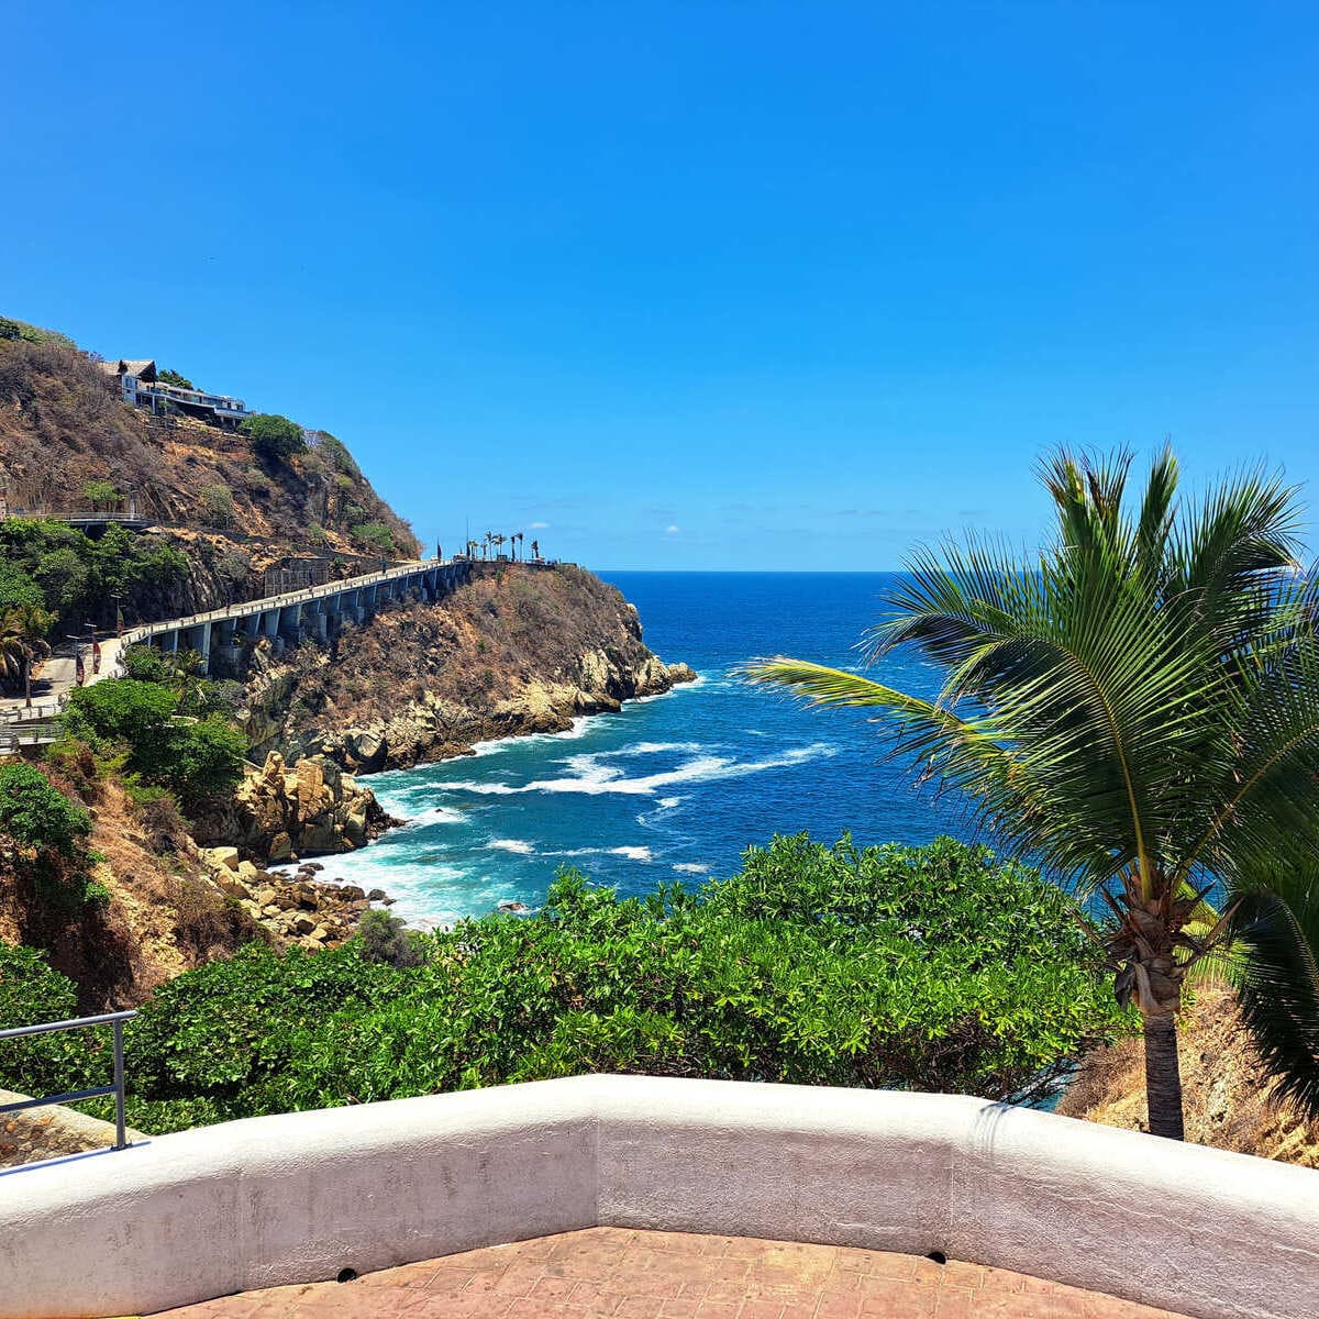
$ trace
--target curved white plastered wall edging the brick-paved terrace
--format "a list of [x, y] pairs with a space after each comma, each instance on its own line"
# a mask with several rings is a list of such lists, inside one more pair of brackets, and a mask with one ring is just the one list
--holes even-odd
[[146, 1314], [595, 1225], [997, 1265], [1319, 1316], [1319, 1173], [952, 1095], [586, 1076], [0, 1174], [0, 1315]]

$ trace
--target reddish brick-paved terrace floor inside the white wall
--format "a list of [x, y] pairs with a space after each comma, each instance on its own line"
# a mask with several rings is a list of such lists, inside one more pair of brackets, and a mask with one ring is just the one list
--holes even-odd
[[[1167, 1319], [1020, 1273], [838, 1246], [592, 1228], [169, 1319]], [[1175, 1316], [1174, 1316], [1175, 1319]]]

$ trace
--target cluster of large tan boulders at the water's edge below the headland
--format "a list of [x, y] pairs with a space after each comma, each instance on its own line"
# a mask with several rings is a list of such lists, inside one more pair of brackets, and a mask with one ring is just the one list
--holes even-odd
[[249, 770], [231, 801], [198, 822], [200, 843], [269, 864], [351, 852], [398, 823], [368, 787], [324, 756], [286, 765], [278, 752]]

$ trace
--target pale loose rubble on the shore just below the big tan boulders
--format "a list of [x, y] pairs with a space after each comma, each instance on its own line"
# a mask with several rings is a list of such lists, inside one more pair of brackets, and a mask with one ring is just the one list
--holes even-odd
[[331, 948], [352, 938], [372, 902], [393, 902], [380, 889], [368, 894], [355, 884], [319, 882], [315, 863], [289, 878], [243, 860], [236, 847], [203, 848], [200, 856], [216, 888], [280, 944]]

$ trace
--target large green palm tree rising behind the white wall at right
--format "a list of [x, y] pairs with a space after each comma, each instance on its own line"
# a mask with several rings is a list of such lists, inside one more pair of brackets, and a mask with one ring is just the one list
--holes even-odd
[[1107, 909], [1150, 1130], [1181, 1138], [1182, 987], [1229, 935], [1279, 1092], [1319, 1111], [1319, 578], [1295, 568], [1294, 488], [1248, 474], [1188, 506], [1165, 451], [1133, 510], [1129, 470], [1046, 463], [1058, 532], [1033, 562], [975, 538], [915, 555], [872, 658], [917, 648], [936, 700], [797, 660], [747, 674], [884, 711], [922, 777]]

